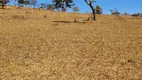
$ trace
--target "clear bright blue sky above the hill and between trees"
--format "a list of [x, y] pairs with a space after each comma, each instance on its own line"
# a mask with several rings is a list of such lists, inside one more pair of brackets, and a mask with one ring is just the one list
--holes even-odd
[[[11, 0], [10, 4], [13, 4]], [[37, 0], [38, 3], [52, 3], [52, 0]], [[75, 6], [79, 7], [81, 13], [91, 13], [91, 9], [84, 0], [73, 0]], [[99, 5], [103, 9], [103, 14], [110, 14], [110, 10], [117, 9], [120, 13], [142, 13], [142, 0], [96, 0], [94, 6]], [[72, 12], [72, 9], [68, 10]]]

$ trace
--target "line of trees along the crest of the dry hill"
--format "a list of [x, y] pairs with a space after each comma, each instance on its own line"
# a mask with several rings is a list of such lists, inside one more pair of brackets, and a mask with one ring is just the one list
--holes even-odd
[[[42, 9], [50, 9], [50, 10], [57, 10], [57, 11], [67, 11], [68, 8], [73, 8], [74, 12], [79, 12], [79, 8], [75, 6], [73, 0], [51, 0], [52, 4], [46, 4], [46, 3], [40, 3], [37, 4], [38, 0], [14, 0], [14, 5], [16, 7], [31, 7], [31, 8], [42, 8]], [[94, 3], [96, 0], [83, 0], [92, 10], [93, 20], [96, 20], [96, 14], [102, 14], [103, 9], [96, 5], [94, 7]], [[2, 3], [2, 8], [5, 8], [6, 4], [9, 2], [9, 0], [0, 0], [0, 3]], [[120, 15], [120, 12], [118, 12], [117, 9], [110, 10], [111, 15]], [[128, 15], [125, 13], [125, 15]], [[132, 16], [142, 16], [141, 13], [132, 14]]]

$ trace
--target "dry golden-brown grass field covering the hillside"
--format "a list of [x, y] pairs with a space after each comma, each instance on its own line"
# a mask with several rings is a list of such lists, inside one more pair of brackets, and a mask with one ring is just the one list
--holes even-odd
[[0, 9], [0, 80], [142, 80], [142, 18]]

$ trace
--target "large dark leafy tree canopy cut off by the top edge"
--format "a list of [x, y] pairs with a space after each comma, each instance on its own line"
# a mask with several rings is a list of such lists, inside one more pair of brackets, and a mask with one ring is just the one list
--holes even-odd
[[67, 8], [74, 6], [73, 0], [52, 0], [55, 8], [58, 10], [66, 11]]

